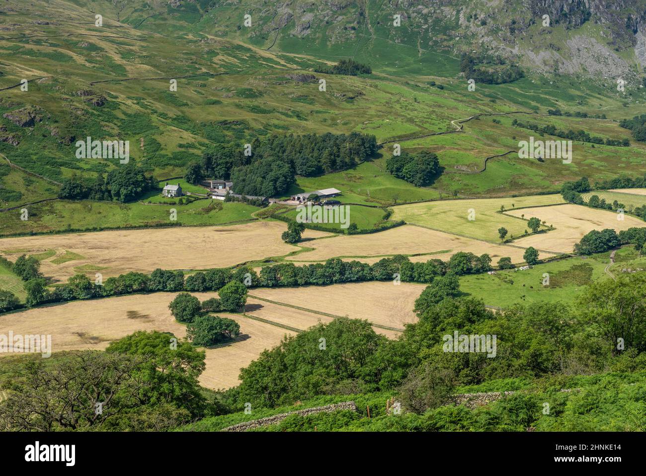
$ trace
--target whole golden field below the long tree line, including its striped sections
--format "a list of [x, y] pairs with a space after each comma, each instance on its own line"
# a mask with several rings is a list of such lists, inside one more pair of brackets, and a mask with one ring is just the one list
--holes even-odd
[[[396, 288], [396, 289], [393, 289]], [[368, 319], [386, 327], [403, 327], [405, 322], [415, 321], [413, 303], [424, 287], [402, 283], [353, 283], [318, 288], [300, 289], [253, 289], [251, 294], [262, 294], [266, 299], [298, 305], [298, 300], [287, 297], [293, 294], [298, 299], [311, 300], [311, 309], [328, 314]], [[315, 296], [317, 290], [319, 301]], [[285, 293], [286, 292], [286, 293]], [[357, 293], [368, 298], [361, 305]], [[87, 301], [72, 301], [34, 309], [28, 309], [0, 316], [0, 334], [50, 334], [52, 352], [73, 350], [104, 350], [111, 341], [118, 340], [138, 330], [158, 330], [172, 332], [178, 339], [185, 339], [186, 327], [178, 323], [168, 308], [178, 293], [156, 292], [152, 294], [132, 294], [129, 296], [106, 297]], [[216, 297], [215, 292], [191, 293], [200, 301]], [[379, 299], [377, 299], [379, 297]], [[326, 306], [326, 303], [333, 303]], [[309, 302], [309, 301], [308, 301]], [[309, 306], [309, 303], [306, 303]], [[303, 306], [303, 307], [307, 307]], [[238, 374], [252, 360], [258, 358], [266, 349], [272, 349], [286, 335], [294, 335], [293, 330], [279, 325], [305, 330], [319, 321], [331, 321], [330, 316], [298, 310], [286, 305], [269, 303], [249, 297], [242, 314], [216, 313], [227, 316], [240, 324], [240, 336], [232, 343], [222, 347], [205, 349], [206, 368], [200, 375], [200, 384], [211, 389], [224, 389], [239, 383]], [[256, 319], [265, 319], [262, 322]], [[278, 324], [278, 325], [276, 325]], [[375, 332], [388, 338], [397, 338], [399, 332], [374, 327]], [[1, 361], [0, 361], [1, 362]]]

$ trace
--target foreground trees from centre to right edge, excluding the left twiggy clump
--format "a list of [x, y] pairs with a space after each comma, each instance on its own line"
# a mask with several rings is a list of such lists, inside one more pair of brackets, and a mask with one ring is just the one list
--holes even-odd
[[[433, 299], [433, 292], [425, 291], [416, 303], [419, 320], [407, 325], [399, 339], [379, 336], [370, 322], [358, 319], [318, 324], [285, 338], [242, 369], [242, 383], [225, 392], [224, 401], [232, 409], [245, 402], [275, 407], [318, 395], [390, 391], [403, 409], [422, 414], [450, 403], [459, 385], [639, 369], [646, 350], [645, 284], [643, 274], [609, 279], [583, 292], [572, 307], [534, 303], [497, 314], [479, 299], [452, 292]], [[496, 335], [497, 358], [485, 352], [446, 352], [443, 335], [453, 330]], [[618, 338], [625, 351], [618, 349]], [[322, 340], [326, 351], [317, 352]], [[541, 406], [531, 403], [529, 415], [539, 413]], [[518, 418], [514, 416], [514, 425], [525, 431]]]

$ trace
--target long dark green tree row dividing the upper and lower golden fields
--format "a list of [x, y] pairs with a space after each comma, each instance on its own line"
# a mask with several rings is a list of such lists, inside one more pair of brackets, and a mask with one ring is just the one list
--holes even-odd
[[[404, 282], [432, 283], [437, 276], [453, 274], [477, 274], [492, 270], [492, 259], [488, 254], [477, 256], [470, 252], [458, 252], [449, 259], [430, 259], [412, 263], [404, 255], [382, 258], [373, 265], [360, 261], [342, 261], [338, 258], [328, 259], [325, 263], [296, 266], [293, 263], [279, 263], [264, 266], [258, 275], [248, 266], [235, 270], [229, 268], [214, 268], [205, 272], [198, 271], [184, 276], [182, 271], [154, 270], [149, 276], [140, 272], [129, 272], [116, 277], [109, 277], [98, 284], [90, 281], [85, 274], [75, 274], [65, 285], [50, 290], [47, 281], [42, 277], [30, 279], [25, 283], [27, 307], [47, 303], [90, 299], [93, 297], [122, 296], [135, 292], [203, 292], [218, 291], [227, 283], [236, 281], [245, 287], [276, 287], [276, 286], [323, 286], [335, 283], [350, 283], [357, 281], [388, 281], [399, 279]], [[222, 297], [220, 298], [222, 300]], [[225, 303], [215, 305], [211, 310], [232, 311]], [[9, 310], [8, 308], [0, 311]]]

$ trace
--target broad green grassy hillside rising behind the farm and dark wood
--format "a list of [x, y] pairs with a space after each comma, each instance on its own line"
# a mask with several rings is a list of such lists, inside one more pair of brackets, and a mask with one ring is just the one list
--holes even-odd
[[[73, 173], [93, 176], [116, 166], [116, 161], [76, 160], [74, 147], [65, 145], [63, 139], [70, 135], [94, 138], [118, 135], [131, 141], [132, 160], [163, 179], [181, 175], [183, 168], [192, 160], [198, 160], [207, 146], [232, 142], [242, 146], [251, 138], [267, 133], [362, 131], [374, 133], [378, 140], [391, 140], [450, 131], [453, 129], [451, 120], [475, 113], [520, 110], [544, 114], [548, 107], [561, 107], [589, 113], [603, 109], [609, 120], [547, 116], [541, 120], [564, 128], [583, 127], [596, 135], [622, 138], [627, 136], [627, 131], [613, 121], [639, 111], [636, 101], [643, 92], [632, 92], [632, 102], [622, 107], [622, 98], [607, 94], [598, 85], [567, 78], [554, 81], [554, 78], [539, 76], [510, 85], [481, 85], [475, 92], [468, 92], [463, 80], [456, 78], [456, 58], [446, 53], [437, 54], [437, 50], [428, 46], [419, 50], [419, 45], [413, 45], [405, 35], [399, 35], [403, 31], [397, 33], [401, 37], [397, 38], [400, 41], [397, 43], [390, 38], [392, 32], [377, 25], [377, 19], [383, 14], [379, 13], [376, 4], [370, 4], [368, 14], [373, 16], [373, 34], [387, 40], [328, 44], [322, 40], [328, 32], [321, 30], [311, 36], [318, 38], [315, 41], [281, 36], [278, 45], [269, 52], [257, 46], [270, 41], [267, 38], [271, 34], [240, 31], [232, 35], [227, 30], [226, 25], [236, 25], [240, 21], [236, 8], [218, 7], [202, 17], [205, 4], [186, 4], [169, 10], [172, 13], [169, 17], [165, 8], [159, 10], [157, 6], [135, 3], [125, 6], [117, 16], [118, 9], [106, 1], [76, 2], [76, 5], [59, 1], [54, 12], [59, 24], [54, 27], [34, 25], [33, 12], [16, 4], [16, 12], [0, 19], [3, 23], [22, 25], [20, 30], [14, 28], [9, 32], [16, 36], [41, 34], [52, 37], [0, 41], [0, 53], [20, 58], [19, 64], [8, 65], [1, 85], [14, 84], [25, 76], [52, 77], [43, 83], [32, 81], [28, 94], [19, 89], [3, 91], [0, 113], [35, 104], [43, 107], [47, 114], [31, 134], [8, 120], [0, 120], [8, 133], [21, 136], [21, 144], [17, 147], [0, 143], [0, 152], [17, 164], [54, 179]], [[42, 6], [43, 11], [48, 8], [42, 1], [34, 5]], [[79, 5], [89, 5], [89, 8], [79, 8]], [[101, 28], [87, 21], [88, 17], [94, 17], [93, 11], [99, 10], [104, 12], [105, 19]], [[162, 15], [138, 26], [143, 18], [154, 13]], [[267, 15], [271, 13], [266, 12]], [[121, 25], [116, 23], [117, 17], [123, 22]], [[268, 20], [256, 18], [256, 25]], [[134, 29], [134, 26], [138, 28]], [[434, 24], [433, 28], [441, 30], [440, 25]], [[53, 36], [67, 32], [88, 36]], [[228, 38], [205, 34], [227, 34]], [[263, 35], [267, 38], [261, 38]], [[243, 45], [240, 39], [248, 44]], [[303, 50], [307, 50], [307, 55], [302, 54]], [[316, 83], [296, 83], [286, 78], [291, 72], [307, 71], [320, 64], [320, 60], [351, 56], [349, 52], [357, 53], [359, 60], [371, 58], [374, 74], [360, 78], [317, 74], [328, 81], [327, 92], [318, 91]], [[444, 66], [437, 64], [438, 61], [444, 61]], [[445, 78], [426, 76], [429, 71]], [[225, 74], [208, 76], [220, 73]], [[180, 78], [187, 74], [203, 76]], [[171, 93], [168, 80], [114, 81], [127, 77], [180, 79], [178, 91]], [[443, 83], [445, 89], [428, 85], [432, 78]], [[89, 85], [89, 81], [96, 80], [111, 81]], [[88, 105], [83, 97], [75, 95], [81, 88], [102, 94], [107, 98], [107, 104], [103, 107]], [[574, 164], [568, 168], [559, 162], [541, 164], [506, 157], [495, 159], [482, 174], [468, 175], [456, 169], [478, 169], [485, 157], [517, 149], [517, 140], [527, 136], [528, 131], [510, 127], [511, 120], [510, 116], [501, 119], [502, 124], [495, 124], [489, 118], [483, 118], [464, 125], [464, 133], [402, 140], [401, 144], [404, 150], [437, 151], [447, 173], [435, 181], [433, 188], [445, 192], [457, 190], [466, 195], [554, 189], [562, 180], [579, 175], [606, 178], [640, 169], [638, 157], [643, 154], [644, 146], [618, 149], [592, 148], [589, 144], [576, 146]], [[56, 136], [52, 135], [52, 129], [56, 129]], [[516, 140], [512, 138], [514, 135]], [[141, 137], [145, 142], [143, 150], [138, 147]], [[384, 156], [388, 154], [390, 150], [386, 147]], [[352, 171], [363, 179], [348, 192], [367, 199], [365, 188], [371, 190], [371, 197], [377, 200], [392, 200], [394, 195], [399, 195], [399, 200], [416, 200], [434, 193], [415, 189], [401, 181], [394, 184], [385, 177], [373, 183], [370, 175], [379, 176], [383, 170], [380, 166], [377, 173], [370, 167]], [[327, 181], [327, 178], [299, 180], [298, 186], [322, 188]]]

